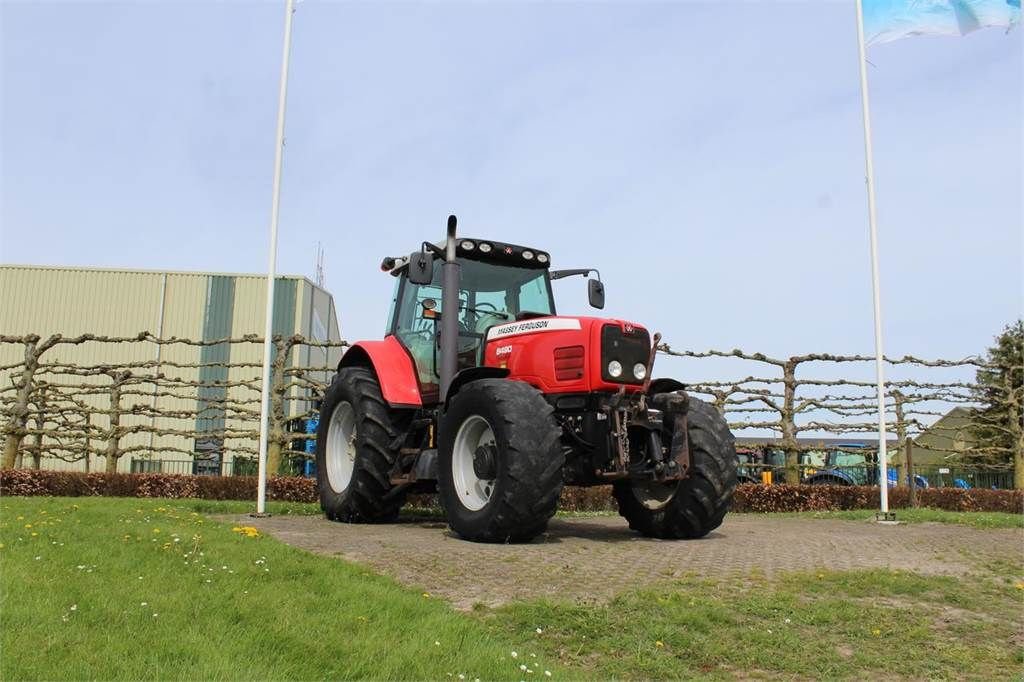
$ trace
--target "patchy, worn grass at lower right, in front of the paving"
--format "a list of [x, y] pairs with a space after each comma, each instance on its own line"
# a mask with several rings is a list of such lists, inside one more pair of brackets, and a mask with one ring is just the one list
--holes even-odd
[[694, 577], [606, 606], [514, 604], [493, 632], [595, 678], [1019, 679], [1021, 587], [865, 570]]

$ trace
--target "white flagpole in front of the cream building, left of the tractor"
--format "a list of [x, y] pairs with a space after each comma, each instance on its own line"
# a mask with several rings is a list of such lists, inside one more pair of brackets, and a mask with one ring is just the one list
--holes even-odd
[[278, 214], [281, 209], [281, 165], [285, 152], [285, 103], [288, 100], [288, 61], [292, 52], [294, 0], [285, 3], [285, 47], [278, 93], [278, 138], [273, 155], [273, 199], [270, 203], [270, 257], [266, 269], [266, 325], [263, 328], [263, 383], [259, 416], [259, 483], [256, 513], [266, 513], [266, 451], [270, 430], [270, 363], [273, 358], [273, 282], [278, 267]]

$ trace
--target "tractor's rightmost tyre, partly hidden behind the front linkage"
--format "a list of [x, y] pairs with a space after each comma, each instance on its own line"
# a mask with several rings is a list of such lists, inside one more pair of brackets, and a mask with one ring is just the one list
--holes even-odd
[[630, 527], [650, 538], [703, 538], [721, 525], [732, 504], [738, 461], [728, 425], [715, 408], [692, 397], [687, 425], [689, 477], [672, 483], [616, 481], [611, 488]]

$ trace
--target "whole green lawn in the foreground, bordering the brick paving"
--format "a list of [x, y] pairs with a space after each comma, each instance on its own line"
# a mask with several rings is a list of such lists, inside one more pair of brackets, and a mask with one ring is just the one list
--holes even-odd
[[[461, 613], [368, 568], [203, 517], [250, 509], [0, 500], [0, 679], [540, 680], [548, 670], [552, 679], [988, 680], [1024, 672], [1020, 561], [975, 562], [976, 573], [959, 580], [886, 570], [688, 576], [606, 605], [531, 601]], [[291, 503], [270, 510], [318, 513]]]

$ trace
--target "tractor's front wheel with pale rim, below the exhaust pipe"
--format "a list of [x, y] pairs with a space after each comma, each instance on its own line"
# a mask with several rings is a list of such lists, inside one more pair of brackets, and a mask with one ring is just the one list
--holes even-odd
[[484, 543], [529, 542], [544, 532], [565, 461], [552, 412], [521, 381], [481, 379], [456, 393], [440, 420], [437, 461], [455, 532]]

